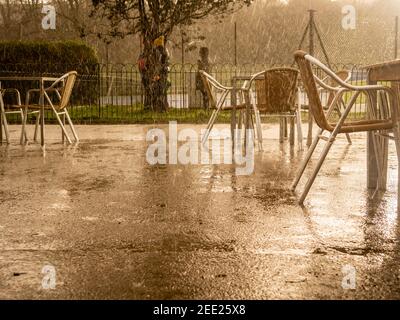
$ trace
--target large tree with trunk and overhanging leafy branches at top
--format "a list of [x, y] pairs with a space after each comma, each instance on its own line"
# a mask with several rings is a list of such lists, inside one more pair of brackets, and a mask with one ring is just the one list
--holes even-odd
[[95, 12], [107, 17], [109, 35], [139, 33], [142, 39], [138, 64], [144, 86], [145, 106], [168, 108], [166, 42], [177, 27], [193, 24], [209, 15], [231, 13], [253, 0], [92, 0]]

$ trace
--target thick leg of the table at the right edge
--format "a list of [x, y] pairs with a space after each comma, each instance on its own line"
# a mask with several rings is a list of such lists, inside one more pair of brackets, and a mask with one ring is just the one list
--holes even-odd
[[[368, 84], [375, 85], [376, 82], [368, 81]], [[371, 105], [369, 106], [369, 111], [373, 112], [377, 110], [378, 103], [377, 103], [377, 95], [374, 93], [371, 97]], [[374, 143], [373, 143], [373, 133], [367, 133], [367, 187], [369, 189], [376, 189], [379, 187], [379, 190], [385, 191], [386, 184], [387, 184], [387, 167], [388, 167], [388, 139], [383, 137], [376, 137], [378, 141], [378, 148], [380, 149], [380, 156], [381, 158], [378, 159], [377, 155], [375, 154], [374, 150]], [[378, 176], [378, 166], [377, 161], [381, 164], [382, 169], [382, 177], [379, 180]]]

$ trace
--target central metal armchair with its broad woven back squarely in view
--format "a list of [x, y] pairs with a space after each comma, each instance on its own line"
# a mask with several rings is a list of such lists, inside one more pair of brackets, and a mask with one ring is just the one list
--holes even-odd
[[262, 116], [278, 116], [280, 121], [280, 142], [283, 142], [286, 121], [291, 119], [290, 144], [294, 145], [294, 120], [297, 123], [299, 148], [302, 149], [303, 134], [301, 130], [301, 110], [297, 89], [299, 71], [293, 68], [273, 68], [264, 70], [252, 76], [247, 83], [247, 92], [250, 94], [252, 83], [255, 82], [256, 103], [253, 103], [256, 115], [257, 137], [262, 149]]

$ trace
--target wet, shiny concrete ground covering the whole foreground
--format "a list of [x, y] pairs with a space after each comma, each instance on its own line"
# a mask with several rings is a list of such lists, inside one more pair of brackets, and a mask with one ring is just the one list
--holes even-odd
[[[388, 191], [370, 200], [365, 135], [338, 139], [302, 208], [289, 185], [305, 151], [279, 144], [276, 125], [264, 125], [250, 176], [151, 166], [150, 128], [77, 126], [81, 142], [67, 147], [47, 126], [44, 155], [19, 146], [11, 126], [0, 146], [0, 298], [400, 298], [393, 145]], [[55, 289], [42, 287], [46, 265]], [[346, 265], [354, 290], [342, 287]]]

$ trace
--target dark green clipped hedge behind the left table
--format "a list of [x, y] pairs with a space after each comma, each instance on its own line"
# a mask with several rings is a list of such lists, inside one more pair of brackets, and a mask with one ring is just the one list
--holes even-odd
[[[72, 103], [97, 103], [99, 60], [93, 48], [80, 41], [0, 41], [0, 75], [61, 76], [75, 70], [78, 81]], [[37, 83], [3, 81], [2, 87], [18, 88], [25, 98]]]

